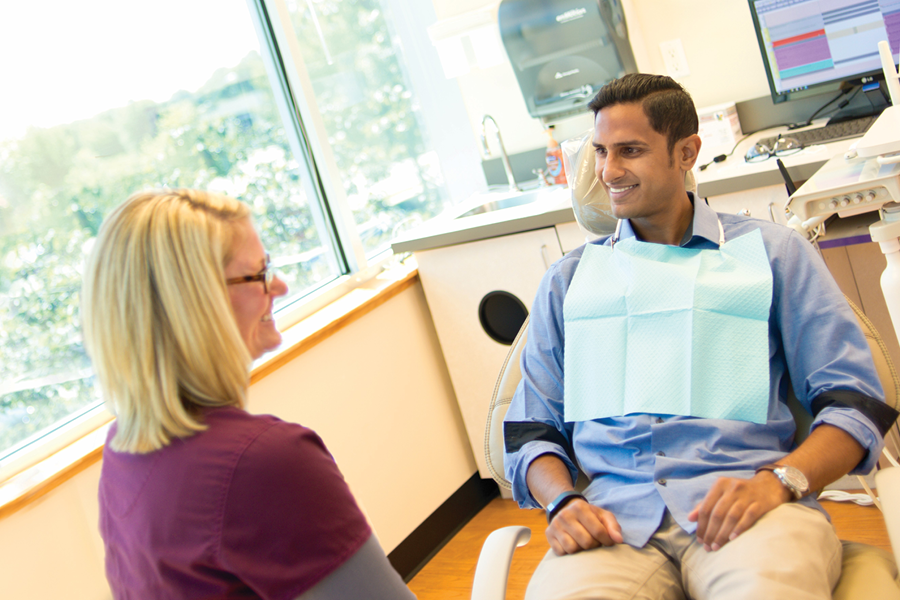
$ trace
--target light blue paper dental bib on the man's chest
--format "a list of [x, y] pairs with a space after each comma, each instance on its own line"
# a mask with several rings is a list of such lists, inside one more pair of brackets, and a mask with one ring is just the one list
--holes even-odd
[[563, 305], [565, 420], [765, 423], [772, 269], [755, 230], [718, 250], [588, 244]]

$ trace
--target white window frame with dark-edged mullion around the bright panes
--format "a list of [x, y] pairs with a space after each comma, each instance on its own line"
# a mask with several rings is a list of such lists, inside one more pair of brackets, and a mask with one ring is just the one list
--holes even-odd
[[[464, 199], [487, 187], [475, 132], [459, 87], [455, 81], [443, 77], [436, 51], [425, 33], [423, 23], [436, 20], [434, 7], [431, 3], [421, 3], [421, 6], [413, 3], [416, 6], [409, 7], [404, 1], [383, 0], [392, 16], [403, 21], [394, 28], [398, 30], [404, 55], [418, 56], [415, 65], [407, 65], [415, 71], [410, 74], [411, 86], [420, 97], [423, 126], [428, 137], [436, 142], [433, 149], [444, 171], [450, 201]], [[299, 167], [306, 172], [306, 177], [301, 179], [314, 223], [321, 232], [323, 246], [332, 252], [337, 263], [337, 277], [278, 307], [274, 315], [277, 326], [286, 330], [378, 276], [392, 264], [394, 257], [390, 248], [366, 256], [286, 0], [246, 2], [285, 134]], [[428, 55], [426, 50], [433, 56], [423, 58]], [[454, 125], [448, 126], [448, 121]], [[277, 355], [278, 352], [271, 353], [254, 366]], [[71, 415], [54, 429], [35, 434], [13, 449], [6, 449], [13, 451], [0, 460], [0, 484], [112, 419], [114, 416], [101, 401]]]

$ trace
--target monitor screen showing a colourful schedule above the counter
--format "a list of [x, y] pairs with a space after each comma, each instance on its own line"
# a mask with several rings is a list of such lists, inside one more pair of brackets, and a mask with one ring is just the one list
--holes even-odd
[[[883, 79], [878, 42], [897, 62], [900, 0], [749, 0], [774, 102]], [[808, 92], [808, 93], [806, 93]]]

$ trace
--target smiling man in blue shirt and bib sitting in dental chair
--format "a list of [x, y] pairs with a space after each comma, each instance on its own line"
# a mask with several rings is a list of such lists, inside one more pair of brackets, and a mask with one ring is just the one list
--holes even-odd
[[[897, 416], [856, 318], [797, 233], [686, 191], [675, 81], [626, 75], [590, 107], [618, 227], [544, 276], [504, 423], [513, 496], [550, 522], [526, 597], [831, 598], [812, 491], [870, 472]], [[789, 385], [815, 415], [799, 447]]]

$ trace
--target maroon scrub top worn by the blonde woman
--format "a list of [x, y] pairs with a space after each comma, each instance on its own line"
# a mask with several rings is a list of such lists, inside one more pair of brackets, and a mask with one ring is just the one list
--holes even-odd
[[109, 448], [100, 532], [117, 599], [284, 598], [313, 587], [371, 529], [310, 429], [238, 408], [149, 454]]

